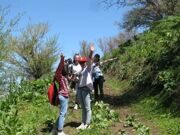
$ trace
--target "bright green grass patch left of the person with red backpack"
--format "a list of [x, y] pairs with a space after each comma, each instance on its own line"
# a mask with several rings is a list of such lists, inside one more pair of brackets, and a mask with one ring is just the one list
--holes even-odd
[[23, 124], [25, 134], [49, 134], [48, 131], [41, 132], [43, 129], [48, 130], [48, 124], [53, 123], [57, 117], [57, 107], [51, 106], [47, 102], [47, 97], [36, 100], [35, 102], [21, 102], [18, 104], [19, 119]]

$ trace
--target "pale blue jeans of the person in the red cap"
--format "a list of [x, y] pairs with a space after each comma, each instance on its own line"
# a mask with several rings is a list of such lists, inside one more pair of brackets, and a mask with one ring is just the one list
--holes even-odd
[[90, 124], [91, 122], [91, 90], [88, 87], [79, 88], [79, 99], [82, 107], [82, 123]]

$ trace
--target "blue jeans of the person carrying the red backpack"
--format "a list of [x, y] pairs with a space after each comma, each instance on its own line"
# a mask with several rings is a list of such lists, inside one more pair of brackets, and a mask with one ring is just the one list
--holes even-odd
[[59, 98], [59, 102], [60, 102], [60, 113], [59, 113], [59, 117], [56, 121], [56, 124], [57, 124], [58, 130], [63, 130], [64, 120], [65, 120], [65, 116], [66, 116], [67, 109], [68, 109], [69, 98], [64, 97], [60, 94], [59, 94], [58, 98]]

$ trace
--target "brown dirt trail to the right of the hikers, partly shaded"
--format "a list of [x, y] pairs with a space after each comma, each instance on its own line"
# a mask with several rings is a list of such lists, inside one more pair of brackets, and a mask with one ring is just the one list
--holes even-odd
[[105, 85], [104, 94], [105, 94], [104, 102], [110, 104], [110, 106], [119, 114], [120, 117], [120, 121], [114, 123], [110, 127], [110, 130], [113, 132], [114, 135], [117, 135], [119, 130], [126, 131], [128, 135], [135, 135], [135, 129], [133, 127], [124, 127], [124, 122], [126, 120], [127, 115], [135, 116], [135, 119], [138, 122], [149, 127], [151, 135], [159, 135], [159, 131], [157, 127], [155, 127], [155, 125], [152, 123], [152, 121], [145, 119], [142, 114], [138, 112], [134, 112], [130, 104], [126, 105], [124, 103], [127, 99], [124, 100], [124, 98], [121, 98], [123, 97], [121, 96], [121, 93], [119, 93], [118, 91], [113, 91], [111, 88]]

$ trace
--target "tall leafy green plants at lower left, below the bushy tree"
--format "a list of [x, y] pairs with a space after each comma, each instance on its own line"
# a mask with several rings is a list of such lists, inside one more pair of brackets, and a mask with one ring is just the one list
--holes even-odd
[[[35, 135], [36, 126], [29, 127], [22, 124], [22, 119], [19, 119], [19, 110], [21, 104], [28, 102], [34, 103], [36, 106], [46, 103], [44, 98], [50, 79], [39, 79], [35, 81], [23, 81], [19, 85], [9, 85], [10, 91], [8, 95], [0, 101], [0, 134], [15, 135], [15, 134], [31, 134]], [[39, 113], [35, 113], [39, 114]], [[37, 116], [32, 116], [37, 120]]]

